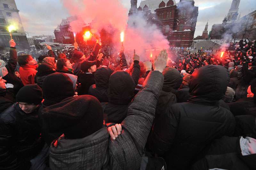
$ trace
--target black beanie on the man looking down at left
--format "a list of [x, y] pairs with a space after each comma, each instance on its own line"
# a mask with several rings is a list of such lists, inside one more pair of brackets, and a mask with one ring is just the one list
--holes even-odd
[[16, 95], [17, 102], [40, 104], [43, 100], [43, 91], [37, 84], [22, 87]]

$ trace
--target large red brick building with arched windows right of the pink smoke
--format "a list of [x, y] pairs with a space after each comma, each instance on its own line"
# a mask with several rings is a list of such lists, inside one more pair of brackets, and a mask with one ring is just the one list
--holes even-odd
[[154, 18], [170, 46], [191, 46], [198, 16], [198, 7], [193, 0], [180, 0], [178, 4], [175, 0], [142, 0], [137, 10]]

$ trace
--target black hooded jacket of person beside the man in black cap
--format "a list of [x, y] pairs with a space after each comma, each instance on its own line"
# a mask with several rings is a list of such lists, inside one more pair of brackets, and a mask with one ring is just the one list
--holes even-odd
[[88, 94], [96, 97], [100, 102], [108, 102], [108, 82], [112, 73], [113, 71], [106, 66], [97, 68], [94, 73], [95, 84], [89, 88]]

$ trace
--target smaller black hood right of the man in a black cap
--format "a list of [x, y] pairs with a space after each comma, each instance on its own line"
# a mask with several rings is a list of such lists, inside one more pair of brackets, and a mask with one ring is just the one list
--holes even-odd
[[96, 88], [108, 89], [108, 81], [112, 73], [113, 71], [106, 66], [101, 66], [97, 68], [96, 72], [94, 73]]

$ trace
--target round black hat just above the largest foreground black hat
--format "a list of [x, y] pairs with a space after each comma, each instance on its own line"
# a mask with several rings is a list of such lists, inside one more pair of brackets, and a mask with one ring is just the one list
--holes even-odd
[[53, 73], [44, 79], [44, 104], [52, 105], [75, 95], [73, 83], [65, 73]]

